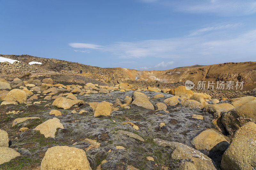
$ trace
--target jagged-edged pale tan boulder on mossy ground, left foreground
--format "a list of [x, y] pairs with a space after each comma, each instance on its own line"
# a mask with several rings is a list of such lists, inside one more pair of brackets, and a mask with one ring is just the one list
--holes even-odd
[[40, 133], [43, 134], [45, 138], [54, 138], [57, 128], [64, 129], [63, 125], [60, 123], [60, 119], [54, 117], [52, 119], [46, 120], [42, 124], [39, 124], [34, 130], [40, 131]]

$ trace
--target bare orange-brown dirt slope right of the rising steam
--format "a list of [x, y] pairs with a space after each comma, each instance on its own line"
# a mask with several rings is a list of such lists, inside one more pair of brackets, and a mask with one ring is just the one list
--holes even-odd
[[177, 68], [164, 71], [142, 71], [141, 80], [153, 79], [164, 82], [244, 81], [244, 90], [256, 86], [256, 62], [223, 63], [195, 68]]

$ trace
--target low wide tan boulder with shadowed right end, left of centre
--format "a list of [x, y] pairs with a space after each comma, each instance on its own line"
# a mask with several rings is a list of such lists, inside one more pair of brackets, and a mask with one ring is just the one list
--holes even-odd
[[66, 97], [58, 97], [53, 101], [52, 106], [56, 106], [57, 108], [60, 108], [60, 109], [69, 109], [74, 105], [82, 105], [82, 104], [84, 104], [83, 100], [72, 100]]

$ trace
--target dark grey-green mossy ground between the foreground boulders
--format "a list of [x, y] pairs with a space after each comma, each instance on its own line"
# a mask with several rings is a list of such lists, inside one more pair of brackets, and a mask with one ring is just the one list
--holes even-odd
[[[147, 92], [147, 95], [151, 98], [155, 94], [154, 92]], [[86, 99], [88, 102], [108, 101], [111, 103], [114, 103], [117, 97], [123, 101], [125, 96], [132, 96], [132, 91], [112, 92], [102, 95], [91, 94], [89, 97], [77, 95], [78, 99]], [[165, 98], [150, 100], [155, 104], [162, 102]], [[42, 99], [38, 101], [40, 100]], [[30, 106], [23, 104], [18, 107], [0, 107], [0, 123], [3, 125], [3, 129], [8, 132], [9, 137], [11, 137], [12, 145], [10, 147], [16, 150], [24, 150], [25, 148], [31, 153], [30, 156], [22, 155], [22, 157], [12, 159], [12, 161], [1, 165], [0, 168], [16, 170], [40, 165], [44, 153], [49, 147], [55, 145], [68, 145], [85, 150], [91, 144], [84, 142], [84, 139], [89, 138], [100, 142], [99, 148], [93, 148], [86, 152], [93, 170], [104, 159], [108, 160], [108, 163], [102, 165], [104, 170], [125, 168], [127, 165], [132, 165], [140, 170], [161, 169], [162, 166], [169, 167], [169, 169], [177, 169], [179, 161], [171, 158], [172, 151], [170, 148], [156, 145], [153, 139], [162, 138], [191, 145], [190, 140], [198, 132], [211, 126], [212, 119], [210, 114], [204, 114], [204, 120], [191, 120], [189, 117], [192, 114], [203, 113], [188, 108], [173, 107], [169, 108], [170, 112], [166, 113], [164, 111], [148, 110], [134, 104], [129, 105], [131, 109], [120, 107], [119, 110], [112, 111], [111, 116], [93, 117], [93, 110], [88, 104], [63, 110], [52, 107], [52, 102], [53, 100]], [[49, 103], [49, 106], [44, 107], [47, 103]], [[65, 129], [57, 129], [55, 138], [45, 138], [43, 134], [33, 129], [44, 121], [55, 117], [54, 115], [49, 115], [52, 109], [61, 111], [62, 116], [57, 118], [60, 119]], [[74, 109], [77, 112], [87, 110], [89, 113], [81, 115], [71, 113]], [[20, 113], [6, 115], [8, 111], [12, 110], [20, 110]], [[162, 116], [157, 116], [158, 113], [161, 113]], [[19, 117], [40, 117], [40, 119], [29, 119], [12, 127], [13, 120]], [[122, 124], [127, 121], [137, 125], [139, 130], [133, 129], [131, 124]], [[159, 128], [160, 122], [164, 122], [166, 126]], [[200, 125], [200, 127], [193, 124]], [[21, 127], [28, 127], [29, 130], [19, 132]], [[135, 133], [144, 138], [145, 142], [119, 134], [117, 133], [118, 130]], [[73, 145], [75, 142], [77, 144]], [[118, 145], [126, 149], [118, 150], [116, 149]], [[109, 150], [111, 152], [108, 152]], [[153, 157], [155, 161], [148, 161], [147, 156]]]

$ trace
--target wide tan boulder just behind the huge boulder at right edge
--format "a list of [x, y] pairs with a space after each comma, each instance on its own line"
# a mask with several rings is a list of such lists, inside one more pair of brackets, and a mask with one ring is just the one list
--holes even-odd
[[234, 108], [230, 103], [208, 104], [204, 107], [204, 112], [212, 113], [215, 118], [219, 118], [221, 113], [228, 112]]

